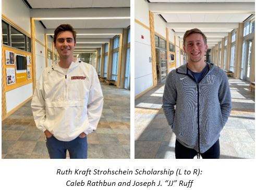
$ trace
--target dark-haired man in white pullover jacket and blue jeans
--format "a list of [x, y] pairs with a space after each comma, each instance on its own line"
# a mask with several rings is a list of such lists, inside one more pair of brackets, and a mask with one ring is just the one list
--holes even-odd
[[54, 31], [59, 62], [46, 67], [31, 107], [36, 127], [46, 136], [50, 158], [87, 158], [87, 135], [99, 123], [103, 95], [94, 67], [76, 60], [76, 32], [69, 24]]

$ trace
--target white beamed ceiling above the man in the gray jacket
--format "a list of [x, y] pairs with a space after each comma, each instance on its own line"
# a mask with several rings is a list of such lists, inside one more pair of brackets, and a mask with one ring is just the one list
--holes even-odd
[[166, 20], [166, 27], [180, 40], [187, 30], [200, 29], [211, 40], [209, 48], [255, 13], [254, 0], [150, 0], [149, 8]]

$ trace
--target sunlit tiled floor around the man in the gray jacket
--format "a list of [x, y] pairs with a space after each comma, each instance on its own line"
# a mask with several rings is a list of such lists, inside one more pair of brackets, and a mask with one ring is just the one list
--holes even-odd
[[[249, 83], [229, 78], [233, 109], [221, 132], [221, 158], [254, 158], [254, 90]], [[175, 158], [175, 134], [162, 110], [164, 85], [135, 101], [135, 158]]]

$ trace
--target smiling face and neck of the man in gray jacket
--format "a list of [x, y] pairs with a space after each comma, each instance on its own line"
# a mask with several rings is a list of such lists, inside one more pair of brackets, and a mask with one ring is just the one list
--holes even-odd
[[207, 44], [204, 44], [203, 36], [193, 33], [186, 37], [184, 51], [187, 53], [189, 63], [204, 63], [204, 53], [207, 51]]

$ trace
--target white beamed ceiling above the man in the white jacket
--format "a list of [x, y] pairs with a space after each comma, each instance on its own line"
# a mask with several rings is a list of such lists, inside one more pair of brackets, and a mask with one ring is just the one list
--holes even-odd
[[[43, 23], [46, 34], [53, 34], [60, 24], [71, 24], [78, 34], [77, 46], [84, 47], [76, 50], [89, 50], [86, 48], [88, 46], [99, 47], [130, 25], [130, 0], [27, 0], [27, 2], [28, 6], [32, 7], [31, 17], [40, 18], [36, 20]], [[102, 19], [103, 17], [107, 19]], [[51, 20], [46, 20], [49, 18]]]

